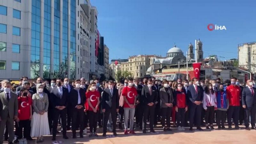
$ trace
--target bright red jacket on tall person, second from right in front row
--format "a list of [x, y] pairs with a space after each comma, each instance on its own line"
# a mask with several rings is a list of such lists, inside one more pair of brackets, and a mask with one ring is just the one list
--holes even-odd
[[229, 85], [226, 92], [229, 106], [240, 106], [241, 88], [237, 85]]

